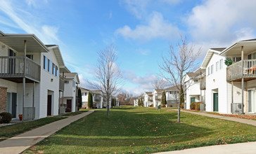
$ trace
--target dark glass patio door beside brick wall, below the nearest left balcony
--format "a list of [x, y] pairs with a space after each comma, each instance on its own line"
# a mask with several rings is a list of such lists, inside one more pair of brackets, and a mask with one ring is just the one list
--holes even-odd
[[13, 118], [16, 118], [17, 113], [17, 93], [7, 92], [7, 109], [8, 113], [11, 113]]

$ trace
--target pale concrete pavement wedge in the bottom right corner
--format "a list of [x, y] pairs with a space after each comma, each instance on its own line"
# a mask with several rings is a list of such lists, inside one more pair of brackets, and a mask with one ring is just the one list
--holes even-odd
[[200, 148], [189, 148], [183, 151], [168, 151], [162, 152], [161, 154], [241, 154], [241, 153], [256, 153], [256, 142], [246, 142], [240, 144], [226, 144], [219, 146], [204, 146]]

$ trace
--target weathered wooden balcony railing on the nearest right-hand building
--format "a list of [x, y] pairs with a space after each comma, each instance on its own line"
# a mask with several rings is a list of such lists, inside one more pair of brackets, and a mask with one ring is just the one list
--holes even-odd
[[226, 80], [240, 80], [241, 78], [256, 78], [256, 59], [245, 59], [226, 68]]

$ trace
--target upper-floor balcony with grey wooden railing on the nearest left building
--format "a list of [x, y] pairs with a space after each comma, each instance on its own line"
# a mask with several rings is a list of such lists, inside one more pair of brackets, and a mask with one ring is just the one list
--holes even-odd
[[0, 56], [0, 78], [15, 83], [40, 82], [41, 67], [39, 64], [23, 56]]

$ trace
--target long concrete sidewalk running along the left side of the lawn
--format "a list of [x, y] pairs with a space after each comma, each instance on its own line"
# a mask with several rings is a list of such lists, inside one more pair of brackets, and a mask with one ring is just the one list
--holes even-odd
[[49, 137], [63, 127], [70, 125], [70, 123], [88, 116], [94, 111], [87, 111], [76, 116], [70, 116], [63, 120], [58, 120], [53, 123], [38, 127], [23, 134], [19, 134], [11, 139], [6, 139], [0, 142], [0, 153], [22, 153], [27, 148], [34, 146], [39, 141]]

